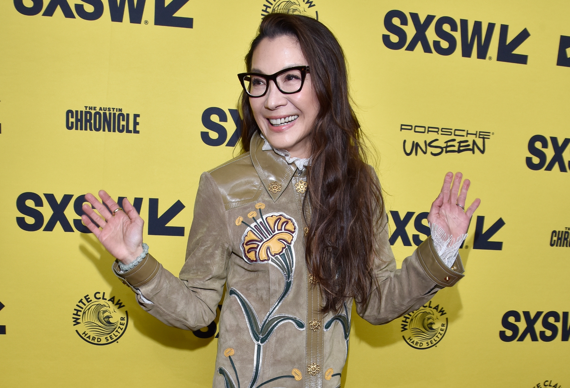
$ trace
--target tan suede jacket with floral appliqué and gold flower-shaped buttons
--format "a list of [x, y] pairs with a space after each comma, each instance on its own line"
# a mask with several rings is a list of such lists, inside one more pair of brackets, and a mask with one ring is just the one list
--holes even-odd
[[[116, 263], [113, 270], [144, 296], [137, 294], [144, 310], [186, 330], [214, 320], [226, 285], [214, 387], [339, 387], [353, 301], [339, 314], [319, 312], [319, 288], [305, 263], [306, 176], [262, 146], [255, 135], [250, 152], [202, 174], [179, 277], [150, 254], [128, 272]], [[461, 258], [447, 268], [431, 237], [396, 269], [386, 221], [378, 235], [380, 289], [356, 304], [373, 325], [420, 308], [463, 277]]]

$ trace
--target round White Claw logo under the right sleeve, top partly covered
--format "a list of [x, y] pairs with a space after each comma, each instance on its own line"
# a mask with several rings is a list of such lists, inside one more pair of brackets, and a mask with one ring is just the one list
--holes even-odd
[[402, 338], [414, 349], [429, 349], [439, 343], [447, 332], [447, 313], [440, 305], [425, 306], [402, 317]]

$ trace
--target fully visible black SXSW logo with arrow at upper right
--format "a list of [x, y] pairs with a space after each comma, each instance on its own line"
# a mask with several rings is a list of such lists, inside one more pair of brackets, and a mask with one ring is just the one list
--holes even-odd
[[[414, 51], [418, 45], [421, 45], [422, 50], [429, 54], [433, 54], [433, 51], [435, 51], [439, 55], [451, 55], [457, 48], [457, 38], [451, 33], [457, 33], [458, 30], [461, 30], [461, 56], [471, 58], [476, 48], [477, 58], [487, 59], [491, 39], [496, 30], [495, 23], [487, 23], [487, 28], [483, 31], [483, 23], [474, 21], [470, 33], [470, 23], [467, 19], [459, 19], [458, 24], [455, 19], [449, 16], [443, 16], [435, 20], [435, 15], [426, 15], [422, 21], [417, 13], [410, 12], [409, 15], [415, 31], [412, 38], [408, 41], [408, 33], [400, 27], [408, 26], [408, 16], [400, 10], [392, 10], [386, 13], [384, 27], [392, 35], [382, 35], [384, 46], [390, 48], [390, 50], [401, 50], [405, 47], [405, 51]], [[399, 23], [394, 23], [394, 19], [397, 19]], [[434, 26], [434, 33], [441, 41], [434, 40], [430, 43], [429, 39], [427, 39], [426, 33], [431, 25]], [[528, 55], [514, 54], [514, 51], [531, 34], [527, 29], [523, 29], [512, 38], [513, 34], [511, 32], [511, 41], [508, 41], [508, 29], [508, 25], [500, 25], [496, 60], [499, 62], [527, 64]], [[491, 60], [492, 57], [489, 56], [488, 59]]]

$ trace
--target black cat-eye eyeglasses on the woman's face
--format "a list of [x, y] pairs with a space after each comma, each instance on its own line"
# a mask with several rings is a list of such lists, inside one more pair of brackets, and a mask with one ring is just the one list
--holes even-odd
[[267, 93], [267, 85], [272, 80], [283, 94], [294, 94], [303, 88], [305, 76], [309, 72], [308, 66], [295, 66], [279, 70], [275, 74], [267, 75], [255, 72], [238, 74], [243, 90], [250, 97], [262, 97]]

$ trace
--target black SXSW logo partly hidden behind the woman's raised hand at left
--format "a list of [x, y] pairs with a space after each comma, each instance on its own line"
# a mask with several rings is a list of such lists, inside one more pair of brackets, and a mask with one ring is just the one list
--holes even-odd
[[[26, 217], [16, 217], [16, 223], [18, 227], [27, 232], [35, 232], [42, 229], [44, 232], [53, 232], [57, 224], [62, 227], [64, 232], [75, 232], [74, 228], [71, 227], [70, 220], [64, 213], [73, 199], [73, 194], [65, 194], [62, 199], [58, 201], [55, 195], [51, 193], [44, 193], [44, 198], [47, 201], [51, 209], [51, 216], [45, 222], [43, 213], [39, 211], [38, 208], [43, 207], [43, 199], [39, 194], [33, 192], [25, 192], [18, 196], [16, 200], [16, 208], [23, 216]], [[123, 203], [125, 197], [119, 197], [117, 199], [118, 204]], [[78, 218], [71, 220], [75, 229], [80, 233], [91, 233], [81, 221], [81, 216], [85, 214], [83, 212], [83, 203], [86, 203], [85, 195], [78, 195], [75, 197], [73, 202], [73, 208], [75, 214]], [[132, 201], [133, 207], [140, 214], [141, 207], [143, 205], [143, 198], [136, 197]], [[107, 206], [107, 205], [105, 205]], [[162, 215], [158, 216], [158, 198], [148, 199], [148, 218], [146, 219], [148, 223], [148, 234], [158, 235], [158, 236], [184, 236], [184, 227], [170, 227], [166, 226], [174, 217], [178, 215], [185, 208], [185, 205], [177, 200], [172, 206], [168, 208]], [[28, 221], [32, 221], [29, 223]]]

